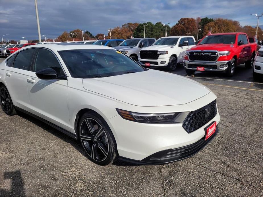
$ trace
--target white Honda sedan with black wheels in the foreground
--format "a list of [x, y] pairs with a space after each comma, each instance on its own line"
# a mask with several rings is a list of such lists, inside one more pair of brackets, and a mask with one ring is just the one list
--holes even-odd
[[146, 69], [100, 45], [32, 45], [0, 64], [1, 107], [79, 140], [99, 165], [167, 164], [218, 133], [216, 95], [189, 78]]

